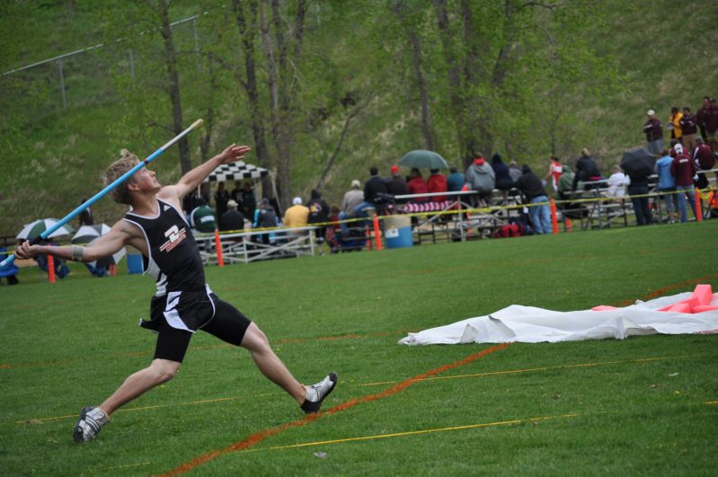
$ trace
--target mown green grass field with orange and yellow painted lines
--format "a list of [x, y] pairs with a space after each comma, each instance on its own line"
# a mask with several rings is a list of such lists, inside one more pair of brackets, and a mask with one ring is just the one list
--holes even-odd
[[[0, 469], [13, 474], [689, 474], [718, 457], [718, 337], [406, 347], [511, 304], [627, 305], [718, 289], [718, 220], [207, 269], [288, 367], [340, 384], [317, 419], [199, 332], [173, 381], [72, 442], [152, 358], [153, 284], [23, 270], [0, 287]], [[419, 378], [419, 379], [417, 379]], [[317, 456], [319, 455], [319, 456]]]

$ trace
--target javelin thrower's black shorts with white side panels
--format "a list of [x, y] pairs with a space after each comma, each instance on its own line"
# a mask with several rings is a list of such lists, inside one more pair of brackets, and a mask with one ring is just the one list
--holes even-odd
[[252, 322], [209, 289], [207, 292], [182, 292], [182, 296], [153, 297], [150, 314], [152, 321], [142, 326], [158, 333], [155, 359], [177, 363], [182, 363], [194, 331], [206, 331], [239, 346]]

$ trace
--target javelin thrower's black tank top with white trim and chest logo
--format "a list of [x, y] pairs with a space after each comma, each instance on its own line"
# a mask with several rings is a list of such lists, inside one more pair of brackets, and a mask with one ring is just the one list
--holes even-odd
[[156, 280], [155, 295], [203, 290], [204, 269], [190, 225], [171, 204], [160, 199], [157, 202], [157, 216], [138, 216], [131, 210], [125, 215], [125, 220], [145, 234], [149, 253], [145, 272]]

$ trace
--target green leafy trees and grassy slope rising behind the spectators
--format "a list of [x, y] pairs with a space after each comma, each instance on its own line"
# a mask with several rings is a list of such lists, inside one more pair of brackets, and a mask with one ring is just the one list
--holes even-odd
[[[103, 45], [63, 58], [66, 110], [57, 62], [0, 76], [0, 150], [8, 171], [0, 178], [0, 234], [14, 234], [40, 216], [63, 216], [80, 197], [99, 190], [102, 167], [120, 147], [145, 155], [172, 136], [158, 29], [162, 4], [0, 5], [6, 19], [0, 24], [2, 72]], [[276, 29], [268, 23], [270, 4], [258, 3], [251, 30], [257, 114], [248, 104], [247, 58], [232, 4], [170, 4], [171, 22], [197, 15], [173, 27], [183, 118], [188, 124], [206, 119], [205, 129], [190, 137], [192, 165], [227, 143], [252, 144], [253, 121], [259, 121], [269, 155], [261, 165], [289, 164], [287, 187], [290, 195], [301, 196], [326, 170], [324, 196], [338, 203], [352, 179], [367, 176], [369, 165], [386, 172], [424, 144], [410, 33], [421, 45], [436, 149], [450, 163], [478, 148], [536, 168], [552, 154], [570, 163], [587, 146], [608, 170], [623, 150], [643, 144], [645, 110], [663, 118], [673, 105], [695, 109], [705, 94], [714, 94], [711, 40], [718, 26], [710, 21], [712, 5], [697, 0], [451, 0], [446, 35], [433, 2], [306, 5], [302, 49], [288, 53], [279, 78], [290, 92], [284, 95], [288, 112], [272, 122], [270, 57], [277, 59], [278, 35], [292, 32], [297, 4], [279, 2]], [[398, 7], [403, 19], [394, 13]], [[683, 26], [675, 25], [677, 18]], [[267, 23], [263, 36], [261, 22]], [[449, 80], [452, 67], [457, 86]], [[278, 139], [279, 126], [287, 128], [290, 144]], [[179, 178], [178, 158], [176, 150], [168, 151], [155, 165], [163, 181]], [[50, 173], [54, 177], [40, 177]], [[32, 195], [44, 187], [50, 189], [39, 198]], [[52, 200], [35, 200], [47, 198]], [[117, 216], [109, 201], [96, 211], [107, 220]]]

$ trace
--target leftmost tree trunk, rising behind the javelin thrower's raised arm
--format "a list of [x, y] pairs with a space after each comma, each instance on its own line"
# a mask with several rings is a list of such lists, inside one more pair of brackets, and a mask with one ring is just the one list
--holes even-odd
[[[170, 26], [170, 16], [168, 13], [169, 3], [160, 1], [158, 3], [160, 15], [162, 18], [162, 38], [164, 39], [164, 66], [167, 69], [167, 93], [172, 102], [172, 121], [175, 136], [182, 133], [185, 129], [184, 119], [182, 119], [182, 96], [180, 94], [180, 76], [177, 73], [177, 53], [174, 51], [174, 43], [172, 38], [172, 27]], [[189, 172], [192, 168], [190, 161], [190, 144], [187, 137], [179, 140], [180, 164], [182, 174]]]

